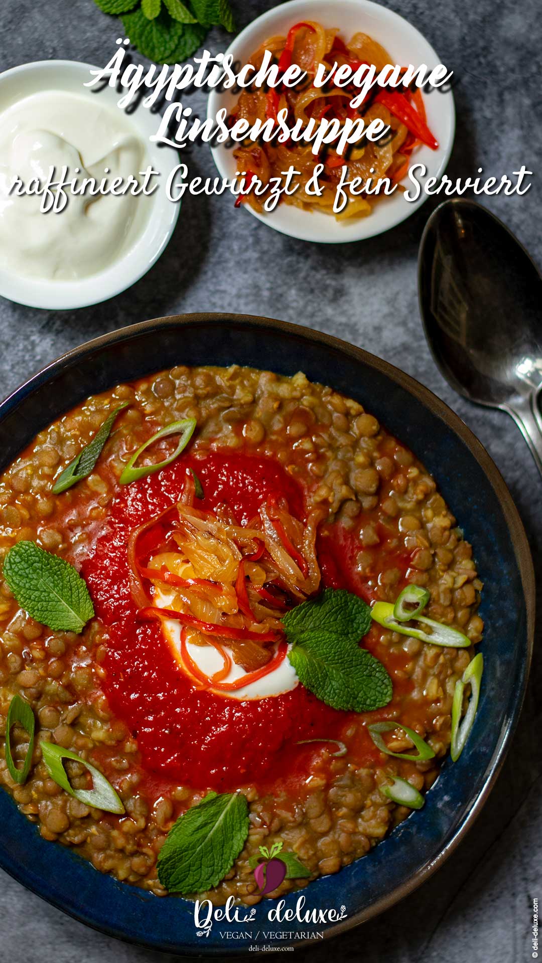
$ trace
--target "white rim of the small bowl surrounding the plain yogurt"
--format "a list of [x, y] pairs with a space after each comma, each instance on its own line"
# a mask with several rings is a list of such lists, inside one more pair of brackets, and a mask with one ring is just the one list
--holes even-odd
[[[0, 111], [6, 110], [22, 97], [39, 91], [55, 90], [77, 93], [82, 97], [97, 97], [98, 103], [121, 110], [117, 106], [121, 94], [106, 87], [99, 93], [83, 85], [91, 80], [90, 64], [76, 61], [37, 61], [15, 66], [0, 74]], [[94, 100], [96, 103], [96, 100]], [[160, 171], [158, 188], [152, 195], [142, 197], [149, 204], [149, 214], [143, 230], [119, 260], [104, 271], [77, 280], [46, 280], [28, 275], [16, 275], [0, 266], [0, 295], [19, 304], [41, 308], [78, 308], [114, 298], [131, 287], [149, 271], [170, 240], [178, 217], [179, 204], [169, 200], [164, 183], [178, 163], [176, 151], [159, 149], [149, 137], [156, 133], [157, 119], [149, 110], [138, 107], [125, 120], [131, 121], [134, 134], [146, 146], [146, 164]], [[44, 215], [55, 217], [57, 215]], [[62, 217], [62, 214], [58, 215]]]

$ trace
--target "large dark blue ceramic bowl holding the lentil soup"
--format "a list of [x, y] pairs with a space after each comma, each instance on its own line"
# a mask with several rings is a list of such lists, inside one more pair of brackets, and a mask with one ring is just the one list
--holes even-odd
[[[444, 764], [424, 808], [366, 857], [304, 891], [303, 912], [335, 909], [340, 914], [342, 907], [339, 922], [270, 922], [268, 912], [276, 903], [264, 899], [250, 922], [215, 922], [207, 936], [198, 936], [193, 903], [157, 898], [96, 872], [63, 846], [42, 840], [11, 796], [0, 793], [0, 864], [15, 879], [83, 923], [183, 954], [246, 952], [255, 943], [300, 946], [316, 932], [331, 936], [364, 922], [419, 886], [457, 846], [495, 782], [522, 705], [532, 649], [528, 542], [489, 455], [446, 404], [413, 378], [328, 335], [264, 318], [217, 314], [125, 327], [70, 351], [0, 406], [0, 468], [87, 395], [175, 364], [235, 362], [285, 375], [302, 369], [311, 380], [366, 405], [420, 457], [474, 546], [484, 583], [485, 669], [467, 747], [457, 763]], [[295, 910], [298, 898], [288, 896], [285, 910]], [[269, 930], [285, 936], [266, 940], [263, 933]], [[235, 936], [226, 938], [226, 932]]]

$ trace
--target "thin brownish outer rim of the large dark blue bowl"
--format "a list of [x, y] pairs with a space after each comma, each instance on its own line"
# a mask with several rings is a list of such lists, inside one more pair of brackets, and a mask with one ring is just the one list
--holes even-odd
[[[527, 659], [524, 665], [523, 684], [521, 690], [518, 690], [517, 692], [516, 700], [510, 713], [508, 723], [504, 730], [501, 730], [499, 743], [487, 764], [485, 770], [485, 781], [482, 789], [477, 794], [474, 804], [466, 814], [464, 820], [458, 826], [452, 838], [447, 843], [447, 846], [444, 846], [444, 848], [439, 851], [438, 855], [434, 859], [432, 859], [425, 866], [421, 867], [418, 872], [414, 873], [402, 883], [399, 883], [385, 897], [380, 898], [376, 902], [372, 903], [366, 909], [355, 913], [352, 917], [348, 918], [344, 922], [327, 929], [325, 931], [325, 936], [329, 938], [338, 936], [339, 933], [345, 932], [354, 926], [366, 923], [366, 921], [369, 919], [372, 919], [387, 909], [390, 909], [395, 903], [399, 902], [399, 900], [413, 893], [416, 889], [418, 889], [422, 882], [440, 869], [441, 866], [446, 862], [448, 856], [451, 855], [453, 850], [459, 845], [468, 831], [472, 828], [474, 821], [479, 816], [491, 790], [493, 789], [493, 786], [495, 785], [506, 753], [508, 752], [510, 742], [515, 732], [524, 703], [528, 684], [528, 672], [534, 645], [535, 579], [532, 558], [528, 546], [528, 538], [518, 509], [514, 504], [512, 496], [508, 491], [506, 483], [503, 480], [497, 465], [487, 453], [481, 442], [478, 441], [474, 435], [474, 432], [468, 428], [468, 426], [457, 414], [455, 414], [454, 411], [452, 411], [450, 407], [448, 407], [447, 403], [438, 398], [432, 391], [430, 391], [429, 388], [426, 388], [424, 385], [422, 385], [416, 378], [407, 375], [399, 368], [396, 368], [389, 361], [384, 361], [382, 358], [365, 351], [363, 348], [358, 348], [347, 341], [343, 341], [342, 339], [335, 337], [335, 335], [327, 334], [324, 331], [315, 330], [304, 325], [294, 325], [290, 322], [279, 321], [257, 315], [231, 314], [227, 312], [197, 312], [153, 318], [149, 321], [138, 322], [134, 325], [127, 325], [122, 328], [117, 328], [116, 330], [110, 331], [107, 334], [103, 334], [97, 338], [93, 338], [90, 341], [83, 342], [76, 348], [61, 354], [58, 358], [41, 368], [41, 370], [35, 375], [24, 381], [21, 385], [19, 385], [18, 388], [14, 390], [14, 392], [12, 392], [2, 403], [0, 403], [0, 421], [2, 421], [7, 414], [16, 409], [18, 404], [21, 403], [26, 397], [28, 397], [34, 391], [39, 390], [43, 384], [46, 384], [51, 377], [71, 367], [73, 363], [81, 364], [87, 361], [90, 357], [95, 355], [96, 351], [101, 351], [103, 348], [109, 347], [112, 344], [121, 344], [122, 342], [129, 341], [131, 338], [137, 337], [143, 332], [152, 330], [159, 331], [183, 325], [198, 325], [200, 323], [211, 323], [215, 325], [233, 323], [234, 325], [241, 327], [267, 327], [274, 331], [294, 335], [301, 340], [312, 341], [313, 343], [315, 342], [321, 345], [326, 345], [335, 351], [340, 351], [354, 360], [360, 361], [362, 364], [375, 369], [380, 374], [390, 378], [409, 394], [418, 398], [418, 400], [424, 404], [425, 407], [429, 408], [433, 414], [437, 415], [437, 417], [439, 417], [446, 424], [448, 429], [451, 429], [459, 436], [459, 438], [469, 449], [471, 455], [474, 456], [484, 475], [492, 485], [501, 504], [502, 513], [510, 533], [512, 546], [521, 575], [527, 612]], [[145, 946], [147, 949], [156, 950], [155, 943], [141, 943], [133, 940], [130, 941], [129, 936], [124, 936], [123, 934], [121, 936], [119, 932], [115, 932], [111, 927], [107, 925], [101, 926], [98, 922], [85, 918], [83, 913], [77, 913], [75, 911], [66, 909], [60, 900], [57, 901], [52, 898], [48, 898], [42, 892], [42, 888], [38, 882], [29, 882], [28, 879], [25, 878], [24, 872], [17, 873], [14, 871], [13, 867], [6, 869], [6, 872], [9, 872], [10, 875], [17, 880], [17, 882], [20, 882], [27, 889], [36, 893], [41, 898], [45, 899], [45, 901], [55, 905], [63, 912], [68, 913], [69, 916], [72, 916], [79, 922], [90, 925], [91, 927], [101, 932], [105, 932], [110, 936], [131, 942], [132, 945], [137, 944], [139, 946]], [[306, 947], [306, 941], [299, 941], [299, 943], [294, 944], [294, 947], [299, 949]], [[169, 950], [169, 952], [171, 952], [171, 950]], [[233, 950], [232, 955], [237, 955], [235, 950]]]

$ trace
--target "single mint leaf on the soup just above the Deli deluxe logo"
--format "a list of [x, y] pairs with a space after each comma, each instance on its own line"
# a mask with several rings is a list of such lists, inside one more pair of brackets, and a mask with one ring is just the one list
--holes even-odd
[[202, 893], [233, 866], [249, 832], [249, 807], [241, 793], [208, 793], [179, 816], [160, 849], [158, 879], [170, 893]]

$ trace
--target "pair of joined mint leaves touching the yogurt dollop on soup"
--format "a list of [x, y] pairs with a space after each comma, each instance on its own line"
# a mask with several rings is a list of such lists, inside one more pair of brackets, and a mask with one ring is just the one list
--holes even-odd
[[288, 659], [306, 689], [334, 709], [371, 712], [388, 705], [392, 680], [382, 663], [358, 644], [370, 609], [357, 595], [326, 588], [283, 618], [292, 648]]

